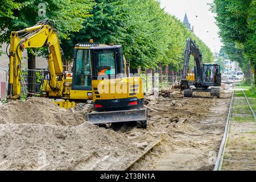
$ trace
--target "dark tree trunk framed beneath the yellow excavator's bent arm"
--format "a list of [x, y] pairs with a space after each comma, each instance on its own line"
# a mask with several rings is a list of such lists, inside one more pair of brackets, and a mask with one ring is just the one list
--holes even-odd
[[[30, 52], [27, 52], [27, 65], [28, 69], [36, 69], [36, 56]], [[35, 96], [36, 93], [36, 72], [28, 70], [27, 75], [27, 90], [28, 90], [28, 97]]]

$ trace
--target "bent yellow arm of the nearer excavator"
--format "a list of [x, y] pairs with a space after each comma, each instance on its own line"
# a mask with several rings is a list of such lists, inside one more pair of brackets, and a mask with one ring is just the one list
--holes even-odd
[[[19, 36], [21, 33], [23, 33], [23, 35]], [[64, 82], [64, 72], [60, 42], [56, 30], [52, 28], [49, 20], [44, 19], [33, 27], [11, 32], [8, 88], [9, 99], [16, 100], [20, 98], [22, 51], [25, 48], [39, 48], [43, 46], [46, 46], [48, 49], [47, 60], [50, 72], [49, 86], [51, 86], [52, 90], [61, 94]]]

